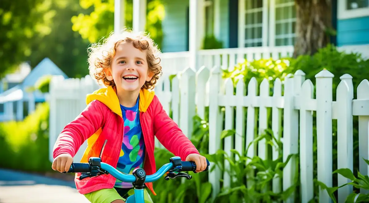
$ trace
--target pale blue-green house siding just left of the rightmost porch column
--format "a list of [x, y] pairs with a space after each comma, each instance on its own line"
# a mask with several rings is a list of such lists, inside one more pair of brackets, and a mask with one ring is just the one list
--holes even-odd
[[165, 17], [162, 21], [162, 52], [188, 51], [189, 0], [166, 0]]

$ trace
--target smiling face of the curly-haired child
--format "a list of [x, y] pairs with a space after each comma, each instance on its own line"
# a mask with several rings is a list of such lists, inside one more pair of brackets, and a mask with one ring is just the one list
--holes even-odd
[[146, 51], [140, 51], [131, 42], [118, 45], [111, 59], [111, 68], [104, 72], [108, 80], [114, 80], [117, 90], [130, 92], [139, 91], [153, 76], [148, 68]]

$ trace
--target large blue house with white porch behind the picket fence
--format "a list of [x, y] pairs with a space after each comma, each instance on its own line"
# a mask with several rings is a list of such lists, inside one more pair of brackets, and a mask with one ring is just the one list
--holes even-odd
[[[124, 26], [124, 0], [115, 0], [114, 30]], [[240, 59], [288, 56], [296, 37], [294, 0], [162, 0], [162, 66], [176, 73], [186, 66], [231, 67]], [[145, 25], [146, 0], [134, 0], [133, 30]], [[369, 57], [368, 1], [332, 0], [332, 42]], [[205, 37], [223, 47], [202, 49]]]

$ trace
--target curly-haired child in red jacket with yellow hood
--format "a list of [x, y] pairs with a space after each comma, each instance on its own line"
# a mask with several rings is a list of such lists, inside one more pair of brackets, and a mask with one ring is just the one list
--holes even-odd
[[[148, 36], [124, 31], [110, 35], [103, 44], [93, 44], [89, 53], [90, 75], [106, 88], [87, 95], [87, 107], [65, 126], [54, 146], [52, 169], [68, 171], [73, 156], [87, 140], [88, 147], [80, 162], [99, 157], [123, 173], [143, 168], [147, 175], [156, 172], [154, 135], [176, 156], [194, 161], [203, 171], [206, 158], [201, 156], [178, 125], [163, 110], [151, 89], [161, 74], [160, 53]], [[124, 202], [132, 183], [100, 175], [79, 180], [76, 187], [92, 203]], [[152, 183], [146, 187], [155, 194]], [[152, 202], [145, 190], [145, 202]]]

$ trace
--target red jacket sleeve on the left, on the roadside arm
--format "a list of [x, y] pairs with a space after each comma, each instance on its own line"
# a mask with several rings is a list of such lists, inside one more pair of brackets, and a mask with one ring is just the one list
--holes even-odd
[[74, 156], [83, 142], [102, 126], [103, 115], [101, 102], [97, 100], [90, 102], [59, 134], [54, 145], [53, 157], [65, 153]]

